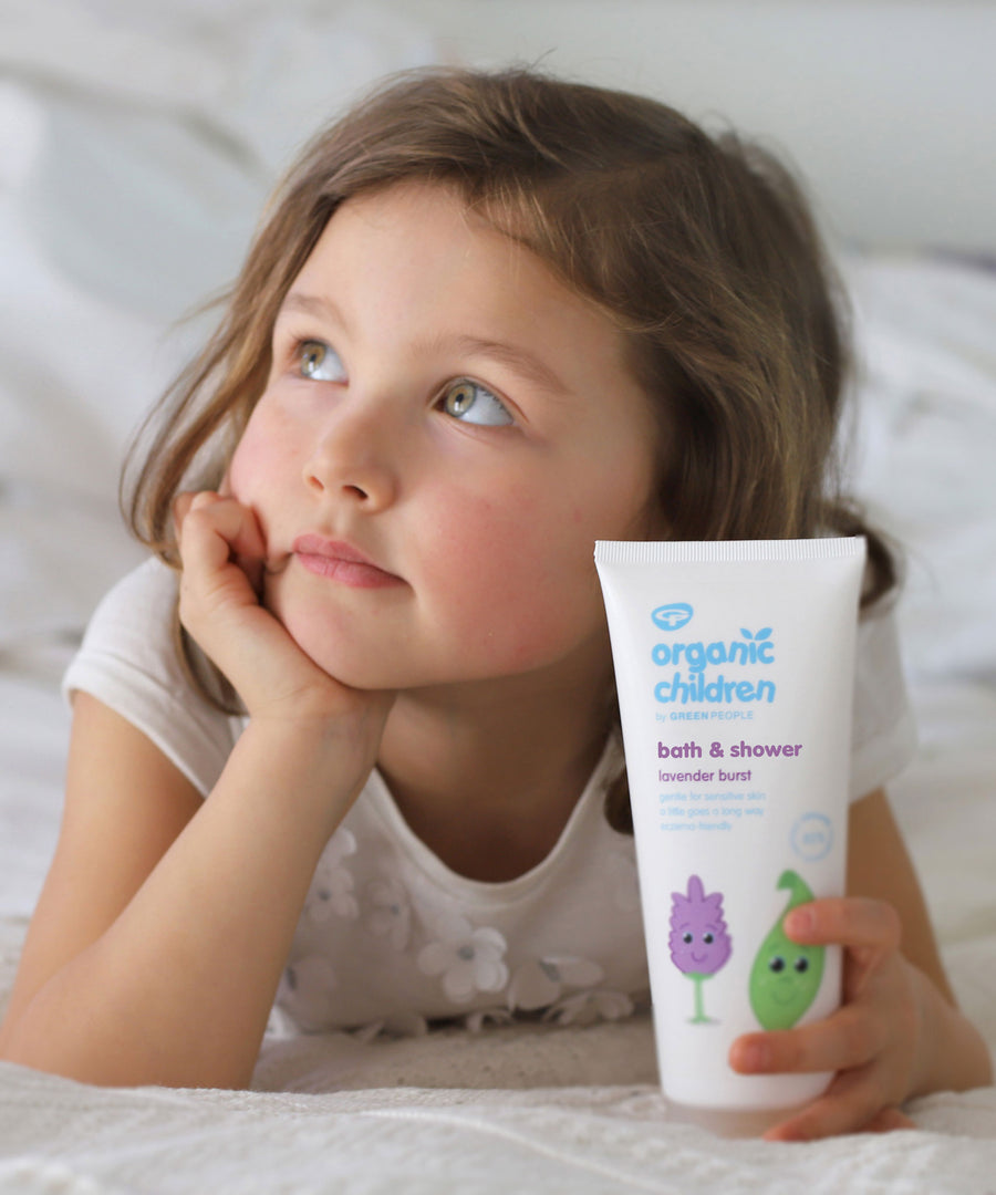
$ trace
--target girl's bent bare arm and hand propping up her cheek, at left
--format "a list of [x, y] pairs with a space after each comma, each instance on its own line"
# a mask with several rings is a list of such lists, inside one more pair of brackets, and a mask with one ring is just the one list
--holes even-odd
[[0, 1056], [92, 1083], [251, 1077], [314, 866], [373, 766], [390, 695], [325, 676], [258, 606], [232, 572], [244, 516], [212, 501], [184, 529], [182, 613], [249, 694], [250, 724], [202, 802], [139, 730], [77, 698], [60, 842]]

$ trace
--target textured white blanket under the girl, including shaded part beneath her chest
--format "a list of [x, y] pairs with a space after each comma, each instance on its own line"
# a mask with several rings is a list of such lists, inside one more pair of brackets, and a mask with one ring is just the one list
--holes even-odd
[[[23, 932], [0, 921], [0, 991]], [[948, 963], [982, 1006], [996, 937]], [[0, 1064], [0, 1195], [996, 1190], [996, 1089], [919, 1101], [917, 1129], [885, 1136], [723, 1140], [674, 1119], [646, 1017], [275, 1040], [255, 1086], [126, 1091]]]

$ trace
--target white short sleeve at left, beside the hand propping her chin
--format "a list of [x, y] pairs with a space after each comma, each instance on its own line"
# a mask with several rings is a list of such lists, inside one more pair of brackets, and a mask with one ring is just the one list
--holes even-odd
[[91, 693], [147, 735], [202, 796], [214, 788], [236, 721], [193, 685], [177, 656], [176, 575], [153, 558], [100, 601], [62, 679], [68, 698]]

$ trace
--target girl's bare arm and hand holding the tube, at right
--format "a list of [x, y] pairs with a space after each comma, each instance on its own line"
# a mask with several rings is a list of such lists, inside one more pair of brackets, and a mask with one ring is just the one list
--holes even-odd
[[992, 1081], [989, 1049], [961, 1015], [923, 894], [880, 790], [851, 808], [848, 896], [786, 918], [796, 942], [844, 946], [844, 1003], [825, 1021], [738, 1038], [744, 1073], [836, 1071], [827, 1091], [766, 1135], [806, 1140], [910, 1124], [913, 1096]]

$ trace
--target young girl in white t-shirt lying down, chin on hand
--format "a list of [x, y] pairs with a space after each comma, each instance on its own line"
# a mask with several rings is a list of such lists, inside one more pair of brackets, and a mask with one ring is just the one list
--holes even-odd
[[[396, 80], [291, 171], [138, 479], [155, 558], [71, 667], [62, 833], [0, 1037], [93, 1083], [243, 1085], [305, 1030], [646, 998], [597, 539], [863, 531], [798, 190], [647, 99]], [[908, 713], [872, 537], [839, 1072], [771, 1135], [989, 1081], [881, 785]], [[207, 799], [204, 799], [207, 798]], [[902, 950], [900, 950], [902, 936]]]

